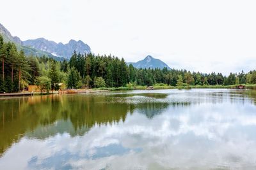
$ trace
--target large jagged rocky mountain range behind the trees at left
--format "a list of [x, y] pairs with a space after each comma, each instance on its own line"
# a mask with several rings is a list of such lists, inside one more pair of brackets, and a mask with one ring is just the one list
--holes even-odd
[[19, 37], [12, 36], [10, 31], [0, 24], [0, 34], [4, 41], [10, 41], [17, 45], [18, 50], [23, 50], [26, 55], [48, 56], [56, 60], [70, 59], [76, 50], [78, 53], [90, 53], [91, 48], [83, 41], [71, 39], [67, 44], [56, 43], [45, 38], [29, 39], [21, 41]]

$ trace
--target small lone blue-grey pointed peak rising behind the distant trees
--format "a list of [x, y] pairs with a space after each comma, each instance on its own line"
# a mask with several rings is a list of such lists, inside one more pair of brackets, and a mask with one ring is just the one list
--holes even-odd
[[167, 64], [159, 59], [155, 59], [154, 57], [148, 55], [143, 60], [139, 60], [138, 62], [127, 62], [127, 64], [132, 64], [136, 68], [160, 68], [163, 69], [167, 67], [167, 69], [171, 69]]

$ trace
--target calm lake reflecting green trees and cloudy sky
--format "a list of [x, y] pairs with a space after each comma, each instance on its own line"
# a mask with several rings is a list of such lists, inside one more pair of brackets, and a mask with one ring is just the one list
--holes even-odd
[[0, 169], [256, 169], [256, 92], [0, 98]]

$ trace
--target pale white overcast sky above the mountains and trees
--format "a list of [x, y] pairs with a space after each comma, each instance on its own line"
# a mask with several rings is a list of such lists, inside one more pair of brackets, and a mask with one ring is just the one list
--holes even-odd
[[[256, 1], [1, 0], [0, 23], [20, 39], [81, 39], [93, 53], [211, 73], [256, 65]], [[4, 7], [4, 8], [3, 8]]]

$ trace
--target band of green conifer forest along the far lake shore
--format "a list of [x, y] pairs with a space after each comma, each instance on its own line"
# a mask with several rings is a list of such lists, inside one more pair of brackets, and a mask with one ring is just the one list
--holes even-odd
[[56, 61], [49, 57], [25, 56], [14, 43], [5, 43], [0, 36], [0, 92], [19, 92], [28, 85], [40, 90], [97, 87], [131, 87], [136, 85], [236, 85], [255, 84], [256, 71], [248, 73], [190, 72], [186, 69], [137, 69], [112, 55], [74, 52], [70, 60]]

